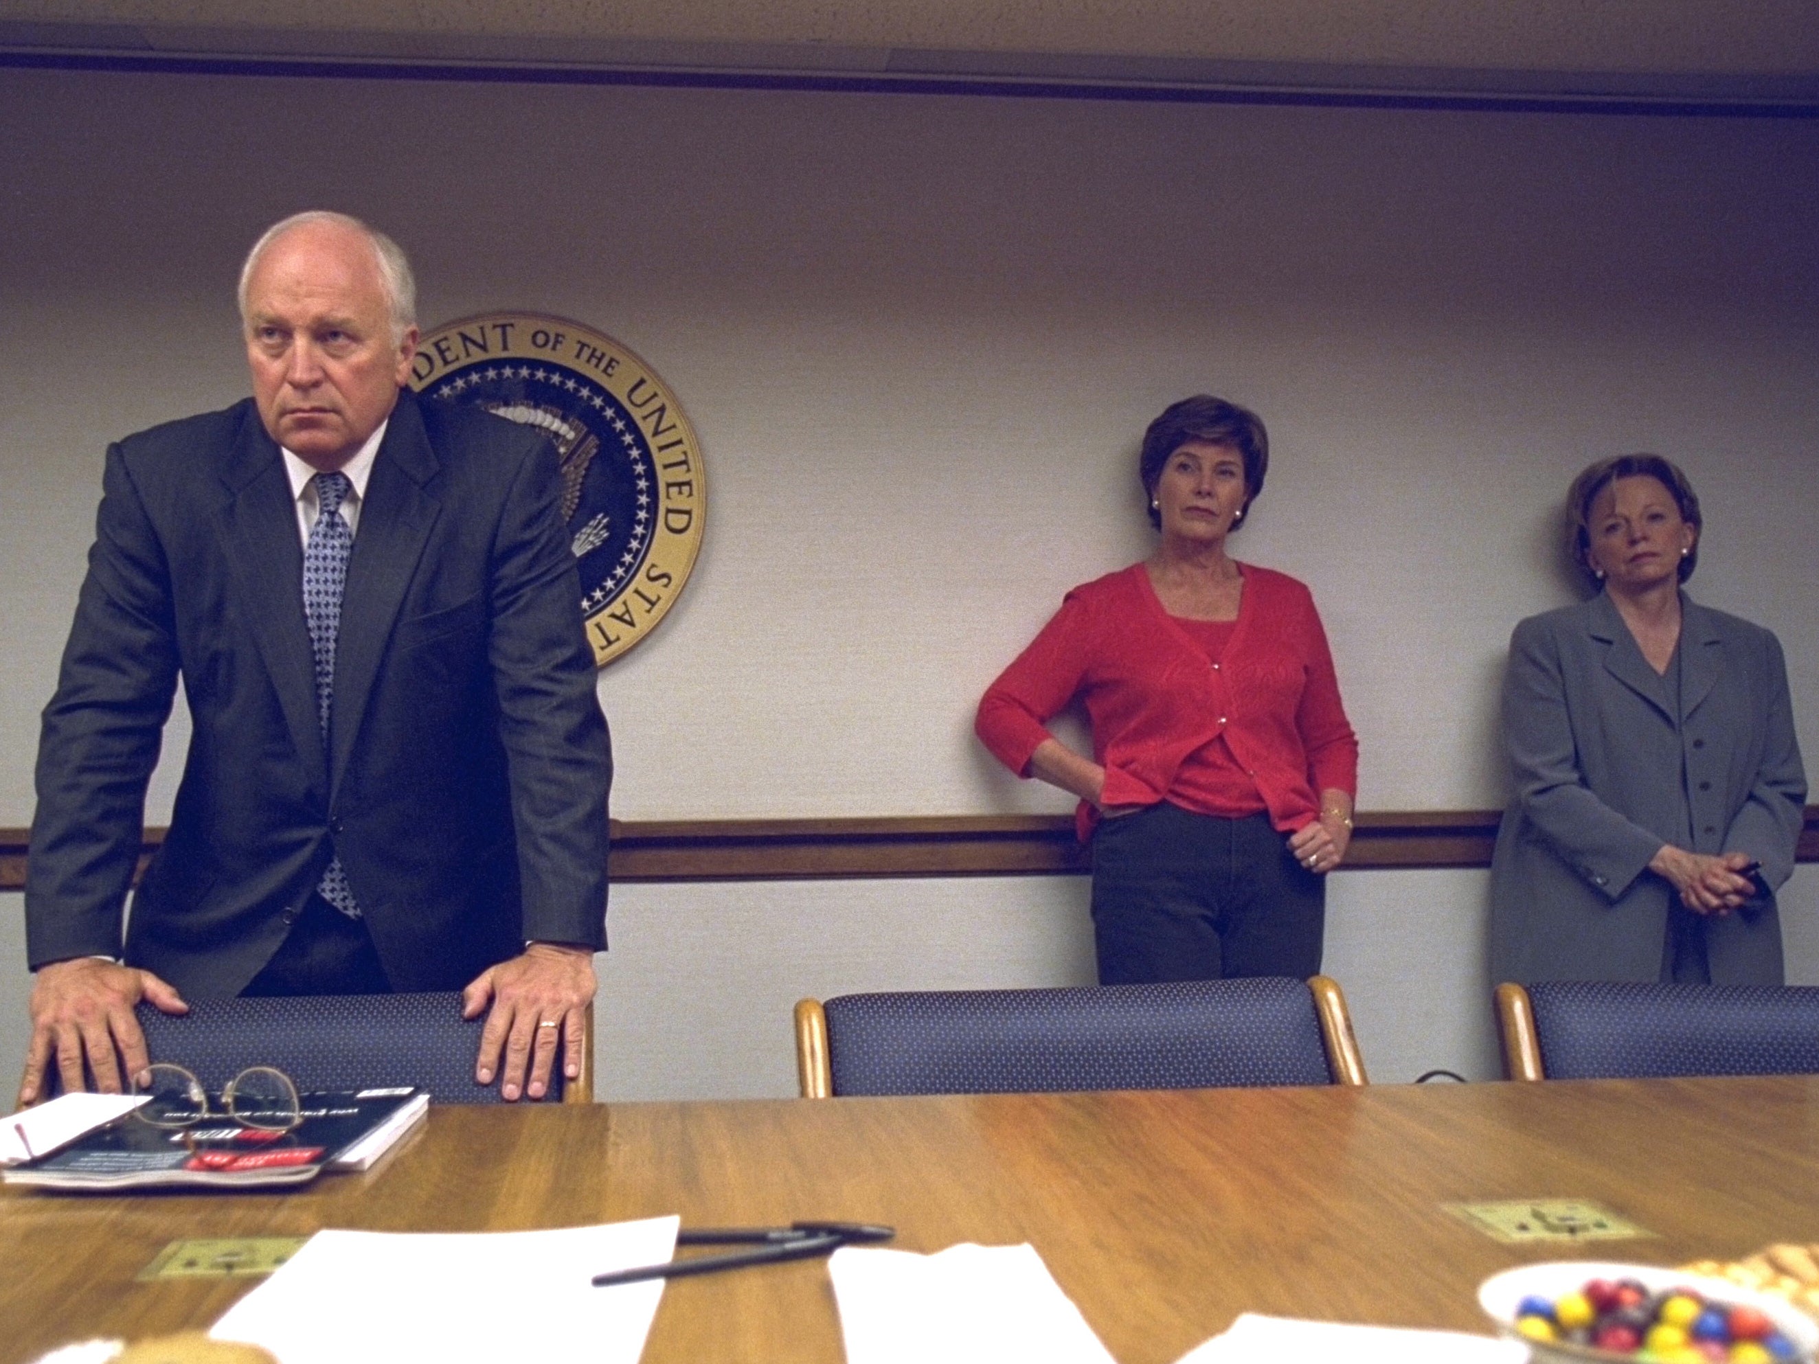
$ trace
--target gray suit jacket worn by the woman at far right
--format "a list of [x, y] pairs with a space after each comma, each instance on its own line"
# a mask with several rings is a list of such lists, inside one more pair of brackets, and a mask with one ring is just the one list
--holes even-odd
[[[1510, 638], [1502, 735], [1515, 800], [1492, 862], [1492, 980], [1655, 980], [1675, 891], [1663, 844], [1741, 851], [1794, 873], [1806, 777], [1775, 637], [1683, 602], [1683, 727], [1610, 597]], [[1684, 777], [1683, 777], [1684, 773]], [[1775, 902], [1710, 918], [1713, 984], [1781, 984]]]

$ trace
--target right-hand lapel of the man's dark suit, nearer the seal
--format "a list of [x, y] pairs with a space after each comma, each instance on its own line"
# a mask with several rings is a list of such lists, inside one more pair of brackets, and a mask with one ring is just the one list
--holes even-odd
[[417, 400], [400, 393], [373, 460], [373, 475], [360, 502], [360, 529], [347, 558], [347, 587], [335, 646], [335, 709], [329, 718], [331, 791], [347, 769], [360, 718], [391, 638], [391, 624], [440, 511], [437, 498], [426, 491], [438, 471]]

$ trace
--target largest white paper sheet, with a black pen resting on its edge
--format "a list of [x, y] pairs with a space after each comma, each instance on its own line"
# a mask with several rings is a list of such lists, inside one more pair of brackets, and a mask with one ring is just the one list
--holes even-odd
[[216, 1340], [282, 1364], [637, 1364], [664, 1280], [595, 1288], [675, 1255], [675, 1217], [557, 1231], [318, 1231], [227, 1309]]

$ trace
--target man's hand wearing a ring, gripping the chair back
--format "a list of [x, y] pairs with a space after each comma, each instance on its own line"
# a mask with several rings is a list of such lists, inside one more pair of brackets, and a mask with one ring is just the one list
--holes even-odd
[[515, 1100], [528, 1093], [542, 1098], [549, 1093], [549, 1068], [560, 1035], [562, 1073], [578, 1080], [580, 1058], [589, 1044], [584, 1033], [593, 991], [593, 949], [562, 942], [533, 942], [522, 957], [482, 971], [462, 991], [464, 1018], [477, 1018], [489, 1000], [493, 1004], [480, 1031], [480, 1058], [473, 1077], [480, 1084], [491, 1084], [504, 1049], [506, 1071], [498, 1082], [498, 1097]]

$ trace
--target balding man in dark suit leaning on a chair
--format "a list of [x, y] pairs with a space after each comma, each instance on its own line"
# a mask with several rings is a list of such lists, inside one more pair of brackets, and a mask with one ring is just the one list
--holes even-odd
[[140, 998], [458, 988], [480, 1082], [542, 1097], [606, 946], [611, 782], [555, 453], [404, 387], [409, 266], [353, 218], [267, 231], [240, 311], [253, 396], [107, 451], [38, 749], [20, 1100], [53, 1066], [120, 1089]]

